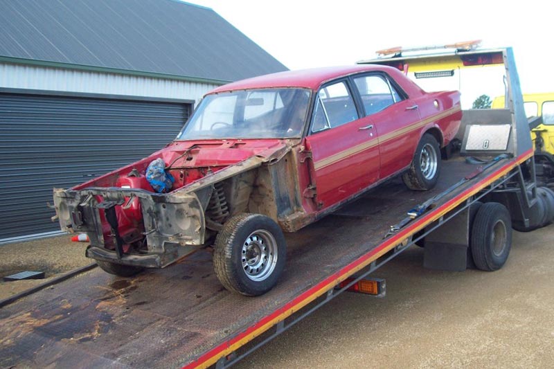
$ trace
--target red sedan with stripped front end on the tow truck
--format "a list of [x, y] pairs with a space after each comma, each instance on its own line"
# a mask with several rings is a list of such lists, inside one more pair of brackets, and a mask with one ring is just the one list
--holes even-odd
[[457, 91], [426, 93], [388, 66], [289, 71], [208, 93], [148, 158], [55, 190], [65, 231], [119, 276], [213, 245], [227, 289], [255, 296], [285, 265], [283, 231], [402, 174], [427, 190], [461, 120]]

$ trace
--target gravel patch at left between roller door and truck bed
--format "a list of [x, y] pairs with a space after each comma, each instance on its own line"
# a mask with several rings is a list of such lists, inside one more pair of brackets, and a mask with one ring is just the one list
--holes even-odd
[[[62, 273], [91, 264], [85, 258], [87, 242], [71, 242], [70, 235], [0, 246], [0, 300], [40, 285]], [[4, 282], [3, 277], [20, 271], [44, 271], [46, 278]]]

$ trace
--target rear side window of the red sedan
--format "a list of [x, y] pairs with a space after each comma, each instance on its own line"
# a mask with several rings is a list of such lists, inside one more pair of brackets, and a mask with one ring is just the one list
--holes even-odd
[[403, 100], [402, 96], [384, 75], [364, 75], [354, 78], [354, 83], [364, 103], [366, 115], [382, 111], [395, 102]]

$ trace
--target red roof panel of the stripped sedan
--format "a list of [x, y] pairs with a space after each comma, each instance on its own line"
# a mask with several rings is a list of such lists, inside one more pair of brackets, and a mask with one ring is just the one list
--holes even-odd
[[260, 75], [259, 77], [248, 78], [225, 84], [217, 87], [210, 93], [219, 93], [225, 91], [235, 91], [243, 89], [261, 89], [261, 88], [283, 88], [283, 87], [301, 87], [305, 89], [316, 90], [321, 84], [328, 80], [340, 78], [354, 73], [364, 71], [389, 71], [394, 70], [391, 66], [383, 65], [350, 65], [350, 66], [330, 66], [316, 69], [302, 69], [298, 71], [285, 71]]

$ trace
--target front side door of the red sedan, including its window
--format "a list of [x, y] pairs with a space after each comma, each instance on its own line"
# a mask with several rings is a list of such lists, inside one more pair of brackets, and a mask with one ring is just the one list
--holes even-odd
[[317, 93], [305, 143], [312, 152], [312, 184], [320, 208], [355, 195], [379, 178], [375, 127], [370, 119], [359, 118], [360, 112], [346, 79]]

